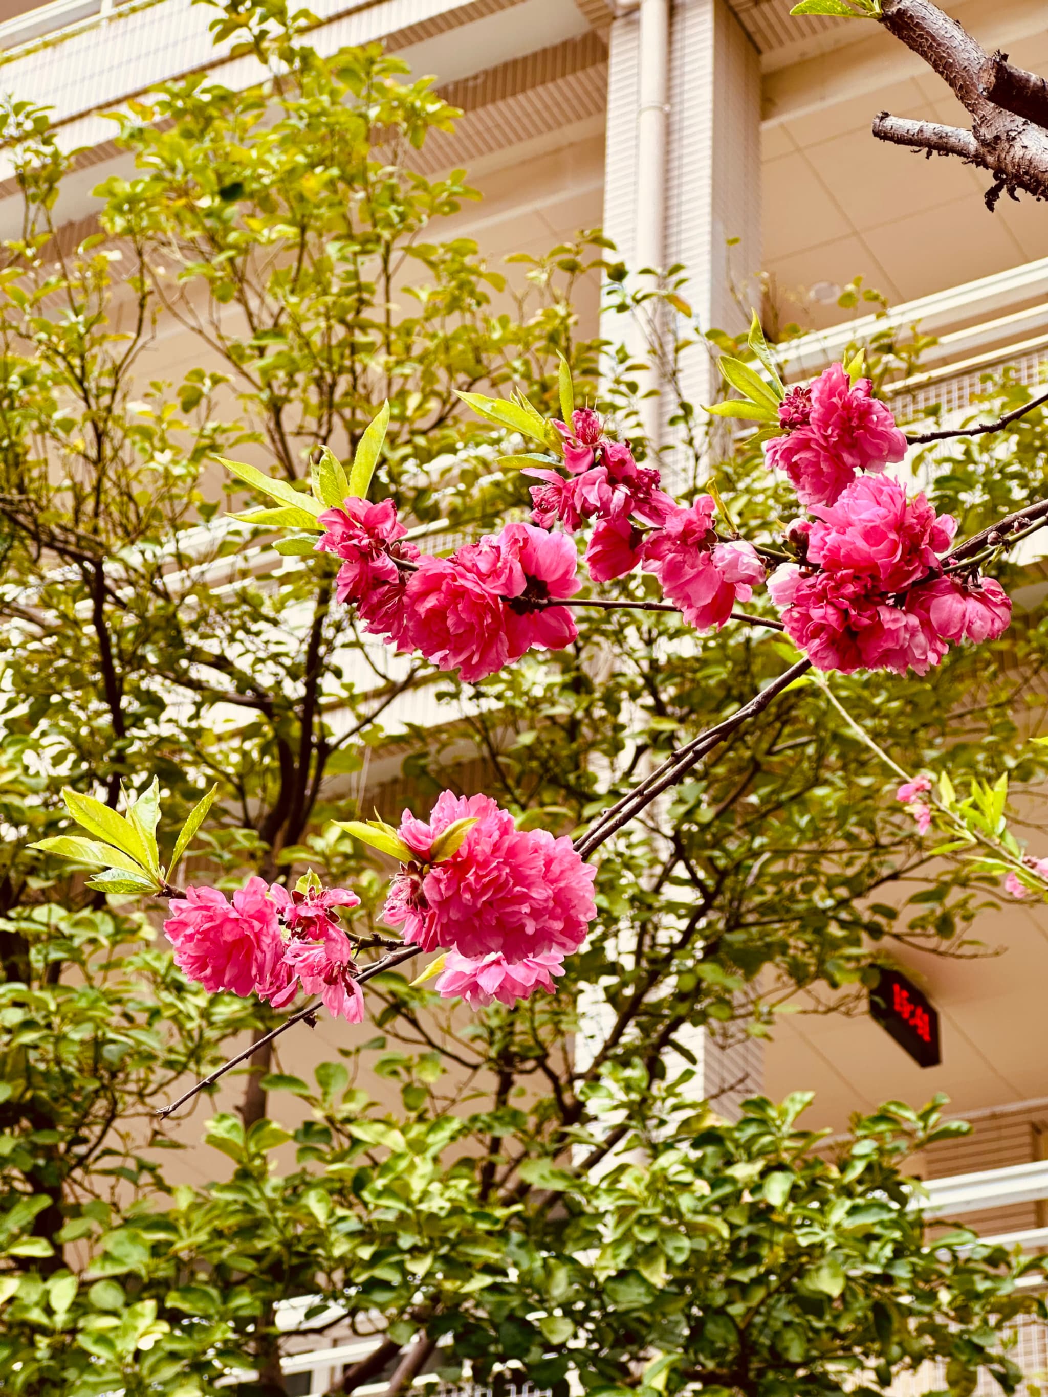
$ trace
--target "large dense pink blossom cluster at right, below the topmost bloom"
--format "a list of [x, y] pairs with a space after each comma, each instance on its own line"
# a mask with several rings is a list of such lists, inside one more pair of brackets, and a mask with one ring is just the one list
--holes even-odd
[[865, 475], [810, 513], [815, 522], [791, 529], [805, 562], [780, 567], [769, 591], [817, 669], [924, 675], [952, 643], [1007, 627], [1012, 602], [998, 583], [943, 573], [957, 524], [924, 495], [908, 500], [898, 481]]

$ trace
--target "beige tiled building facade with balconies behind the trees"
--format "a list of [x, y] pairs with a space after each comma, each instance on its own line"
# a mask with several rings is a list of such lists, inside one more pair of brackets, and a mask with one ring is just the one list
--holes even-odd
[[[687, 268], [685, 295], [704, 328], [739, 330], [748, 305], [762, 306], [766, 323], [796, 323], [805, 331], [789, 351], [796, 376], [875, 328], [862, 320], [869, 302], [838, 303], [861, 278], [859, 289], [890, 305], [890, 323], [919, 323], [938, 337], [919, 374], [893, 387], [903, 411], [931, 401], [960, 411], [1002, 365], [1026, 381], [1042, 376], [1048, 212], [1002, 200], [991, 214], [987, 176], [872, 138], [871, 120], [885, 109], [959, 116], [946, 85], [879, 27], [791, 17], [789, 0], [321, 0], [312, 8], [317, 49], [380, 39], [415, 73], [435, 74], [463, 109], [456, 131], [428, 144], [422, 169], [470, 169], [483, 201], [456, 225], [490, 258], [541, 254], [602, 225], [629, 265]], [[946, 8], [985, 49], [1048, 71], [1037, 0]], [[102, 110], [201, 67], [228, 85], [253, 75], [249, 60], [215, 54], [208, 10], [190, 0], [28, 8], [15, 0], [0, 4], [0, 91], [48, 103], [60, 141], [80, 152], [57, 210], [71, 237], [91, 228], [92, 187], [129, 168]], [[14, 193], [0, 152], [0, 236], [17, 226]], [[598, 306], [598, 288], [585, 288], [590, 328]], [[166, 334], [165, 376], [193, 352], [187, 338]], [[693, 352], [685, 372], [701, 402], [708, 358]], [[1031, 585], [1026, 605], [1044, 591]], [[731, 1109], [755, 1088], [773, 1097], [810, 1088], [812, 1125], [831, 1129], [880, 1099], [945, 1091], [977, 1129], [918, 1162], [942, 1180], [933, 1194], [987, 1235], [1048, 1246], [1048, 916], [1016, 905], [985, 916], [978, 933], [1005, 954], [911, 953], [907, 963], [940, 1014], [939, 1066], [919, 1067], [871, 1018], [795, 1016], [763, 1060], [752, 1046], [706, 1044], [706, 1090]], [[302, 1052], [320, 1059], [338, 1042], [321, 1023]], [[299, 1391], [326, 1390], [341, 1362], [361, 1356], [340, 1347], [337, 1331], [324, 1343], [321, 1351], [303, 1336], [303, 1352], [288, 1361]], [[1038, 1333], [1023, 1343], [1027, 1370], [1048, 1368]], [[908, 1390], [939, 1386], [928, 1375]]]

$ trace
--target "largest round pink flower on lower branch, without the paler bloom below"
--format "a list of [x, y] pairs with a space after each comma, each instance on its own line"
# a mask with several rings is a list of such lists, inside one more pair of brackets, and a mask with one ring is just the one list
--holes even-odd
[[569, 838], [517, 830], [513, 816], [485, 795], [467, 799], [444, 791], [433, 806], [430, 834], [468, 817], [478, 823], [450, 858], [401, 866], [386, 921], [404, 925], [404, 940], [423, 950], [444, 946], [472, 960], [499, 953], [518, 963], [577, 950], [597, 915], [595, 869]]

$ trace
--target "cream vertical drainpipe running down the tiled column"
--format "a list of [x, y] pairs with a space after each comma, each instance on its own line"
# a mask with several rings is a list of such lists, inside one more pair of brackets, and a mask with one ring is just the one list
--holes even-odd
[[[637, 270], [647, 267], [655, 272], [665, 267], [669, 3], [671, 0], [640, 0], [639, 7], [637, 212], [633, 254]], [[648, 334], [658, 337], [661, 307], [657, 303], [648, 305], [654, 306]], [[657, 367], [650, 374], [647, 386], [661, 387]], [[641, 419], [644, 434], [651, 447], [657, 448], [661, 440], [661, 398], [641, 401]]]

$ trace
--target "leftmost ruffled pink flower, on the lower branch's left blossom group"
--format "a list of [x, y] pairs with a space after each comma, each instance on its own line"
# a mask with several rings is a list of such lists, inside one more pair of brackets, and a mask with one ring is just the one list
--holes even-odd
[[233, 893], [232, 905], [214, 887], [190, 887], [173, 898], [163, 930], [175, 964], [211, 993], [231, 990], [264, 999], [286, 988], [284, 939], [277, 905], [260, 877]]

